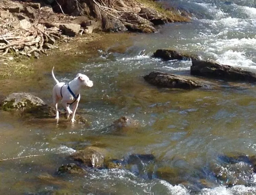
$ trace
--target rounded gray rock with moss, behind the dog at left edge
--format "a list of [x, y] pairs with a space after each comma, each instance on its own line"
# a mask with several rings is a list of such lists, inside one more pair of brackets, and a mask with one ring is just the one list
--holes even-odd
[[30, 93], [12, 93], [1, 102], [0, 109], [3, 110], [24, 110], [33, 107], [44, 106], [46, 103], [39, 97]]

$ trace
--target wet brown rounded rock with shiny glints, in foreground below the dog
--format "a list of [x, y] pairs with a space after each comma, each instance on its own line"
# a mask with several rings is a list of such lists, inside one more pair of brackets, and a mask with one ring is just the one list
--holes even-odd
[[70, 157], [87, 167], [100, 169], [104, 167], [104, 160], [106, 155], [107, 152], [103, 148], [88, 146], [83, 150], [78, 150], [77, 152], [71, 154]]

